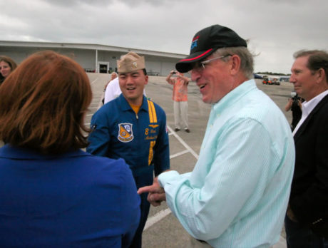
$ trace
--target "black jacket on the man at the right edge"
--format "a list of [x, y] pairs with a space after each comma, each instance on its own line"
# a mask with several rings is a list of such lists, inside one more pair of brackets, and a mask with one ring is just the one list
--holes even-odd
[[299, 222], [328, 237], [328, 95], [294, 135], [296, 160], [289, 205]]

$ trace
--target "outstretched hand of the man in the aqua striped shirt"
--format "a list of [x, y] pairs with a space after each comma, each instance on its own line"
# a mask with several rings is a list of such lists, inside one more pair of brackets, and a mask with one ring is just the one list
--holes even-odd
[[166, 200], [165, 191], [163, 187], [160, 187], [158, 183], [158, 177], [154, 178], [153, 185], [140, 187], [138, 190], [138, 194], [143, 194], [148, 192], [147, 200], [150, 202], [151, 205], [157, 207], [160, 205], [161, 202]]

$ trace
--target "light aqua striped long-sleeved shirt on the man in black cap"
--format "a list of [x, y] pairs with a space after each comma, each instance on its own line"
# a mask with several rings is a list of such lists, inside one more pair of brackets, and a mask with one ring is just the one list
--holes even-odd
[[294, 170], [294, 141], [281, 110], [246, 81], [212, 105], [193, 172], [158, 180], [183, 227], [212, 247], [278, 242]]

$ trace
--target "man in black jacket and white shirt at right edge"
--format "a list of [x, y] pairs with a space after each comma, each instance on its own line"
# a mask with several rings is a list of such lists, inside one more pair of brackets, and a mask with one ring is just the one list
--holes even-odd
[[285, 229], [287, 246], [328, 247], [328, 53], [294, 53], [289, 81], [304, 98]]

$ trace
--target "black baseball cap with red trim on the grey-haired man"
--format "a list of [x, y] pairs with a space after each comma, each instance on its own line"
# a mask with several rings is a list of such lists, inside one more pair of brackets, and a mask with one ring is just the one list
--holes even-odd
[[192, 69], [192, 63], [200, 61], [214, 53], [217, 48], [245, 46], [246, 41], [235, 33], [235, 31], [220, 25], [212, 25], [198, 31], [191, 41], [190, 55], [175, 64], [180, 73]]

